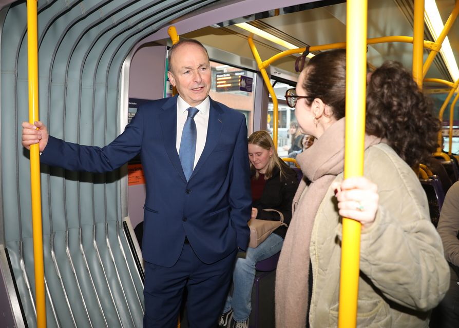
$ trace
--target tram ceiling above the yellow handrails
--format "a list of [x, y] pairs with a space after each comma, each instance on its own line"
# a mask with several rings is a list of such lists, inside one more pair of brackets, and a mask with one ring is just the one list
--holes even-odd
[[[443, 23], [446, 22], [454, 8], [453, 0], [437, 0], [438, 11]], [[226, 20], [212, 28], [203, 28], [190, 33], [186, 37], [197, 37], [203, 43], [223, 50], [251, 58], [248, 45], [242, 46], [241, 36], [246, 39], [250, 34], [235, 24], [248, 23], [262, 31], [271, 33], [287, 42], [301, 48], [307, 45], [318, 46], [338, 43], [346, 40], [346, 2], [343, 1], [318, 1], [314, 3], [291, 6], [278, 10], [260, 12], [243, 17], [235, 17]], [[456, 21], [451, 28], [448, 38], [451, 43], [456, 63], [459, 60], [459, 23]], [[212, 37], [212, 36], [219, 37]], [[412, 0], [369, 0], [368, 1], [368, 37], [413, 35], [413, 1]], [[224, 42], [222, 41], [224, 39]], [[283, 51], [283, 48], [260, 36], [254, 39], [259, 49], [262, 60], [271, 57], [275, 50]], [[425, 39], [433, 41], [427, 26]], [[224, 44], [223, 44], [224, 43]], [[374, 44], [368, 47], [368, 60], [373, 66], [381, 65], [385, 60], [398, 60], [405, 67], [412, 66], [412, 45], [408, 43], [384, 43]], [[428, 51], [424, 52], [424, 60], [427, 59]], [[280, 61], [282, 68], [293, 71], [295, 57], [290, 56]], [[275, 66], [278, 65], [276, 62]], [[451, 74], [443, 60], [437, 55], [431, 65], [427, 76], [452, 80]]]

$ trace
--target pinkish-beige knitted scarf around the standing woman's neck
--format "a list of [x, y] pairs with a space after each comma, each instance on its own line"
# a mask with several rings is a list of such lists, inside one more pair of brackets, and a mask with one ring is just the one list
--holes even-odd
[[[365, 149], [380, 138], [365, 136]], [[318, 208], [331, 183], [344, 167], [345, 118], [330, 126], [310, 148], [296, 157], [311, 181], [305, 194], [304, 179], [293, 199], [293, 217], [284, 239], [276, 272], [276, 326], [301, 328], [308, 313], [311, 233]], [[338, 218], [338, 213], [336, 213]], [[320, 219], [320, 217], [318, 218]]]

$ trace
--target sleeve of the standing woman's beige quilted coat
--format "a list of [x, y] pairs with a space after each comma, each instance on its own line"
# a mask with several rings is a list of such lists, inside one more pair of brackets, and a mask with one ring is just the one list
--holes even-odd
[[388, 299], [428, 311], [448, 290], [449, 267], [426, 194], [393, 152], [366, 163], [365, 175], [378, 186], [379, 207], [373, 224], [362, 229], [360, 270]]

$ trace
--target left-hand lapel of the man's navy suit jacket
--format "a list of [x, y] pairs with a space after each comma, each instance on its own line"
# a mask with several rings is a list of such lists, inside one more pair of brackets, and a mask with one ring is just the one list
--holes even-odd
[[186, 182], [182, 163], [177, 153], [177, 96], [170, 98], [162, 107], [159, 115], [164, 147], [169, 159], [180, 177]]

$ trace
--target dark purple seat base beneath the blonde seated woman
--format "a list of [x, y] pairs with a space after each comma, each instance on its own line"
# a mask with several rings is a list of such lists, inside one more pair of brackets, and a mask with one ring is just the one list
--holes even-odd
[[256, 265], [249, 328], [274, 328], [274, 284], [280, 252]]

